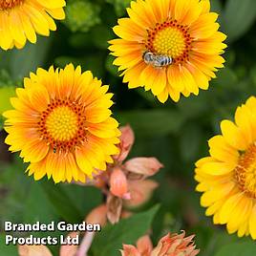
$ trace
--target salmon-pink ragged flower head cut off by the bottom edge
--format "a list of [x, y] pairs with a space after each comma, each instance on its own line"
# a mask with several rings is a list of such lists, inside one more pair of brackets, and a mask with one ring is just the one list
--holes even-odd
[[199, 249], [193, 242], [194, 235], [185, 237], [185, 232], [181, 234], [167, 234], [160, 239], [159, 244], [153, 248], [150, 238], [144, 236], [134, 245], [123, 245], [122, 256], [196, 256]]

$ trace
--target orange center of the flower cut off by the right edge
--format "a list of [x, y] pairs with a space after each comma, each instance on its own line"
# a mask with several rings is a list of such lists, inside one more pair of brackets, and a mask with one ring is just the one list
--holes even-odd
[[251, 145], [243, 155], [241, 155], [235, 177], [239, 187], [245, 194], [256, 199], [256, 145]]

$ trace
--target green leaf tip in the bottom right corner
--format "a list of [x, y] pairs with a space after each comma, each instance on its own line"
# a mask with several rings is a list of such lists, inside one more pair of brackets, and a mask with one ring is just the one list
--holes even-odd
[[232, 243], [224, 245], [215, 256], [252, 256], [256, 255], [256, 244], [254, 241]]

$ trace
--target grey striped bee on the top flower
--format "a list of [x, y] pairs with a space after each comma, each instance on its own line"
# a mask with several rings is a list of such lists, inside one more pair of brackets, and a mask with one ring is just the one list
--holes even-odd
[[168, 55], [160, 55], [151, 52], [145, 52], [142, 58], [146, 64], [152, 65], [154, 68], [162, 68], [172, 64], [173, 59]]

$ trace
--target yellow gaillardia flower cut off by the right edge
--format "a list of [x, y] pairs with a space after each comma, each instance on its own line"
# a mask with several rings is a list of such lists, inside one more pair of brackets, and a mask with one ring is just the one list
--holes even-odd
[[256, 97], [238, 107], [235, 122], [221, 122], [222, 135], [209, 140], [210, 157], [196, 163], [201, 204], [214, 224], [256, 239]]

